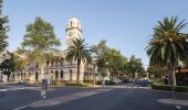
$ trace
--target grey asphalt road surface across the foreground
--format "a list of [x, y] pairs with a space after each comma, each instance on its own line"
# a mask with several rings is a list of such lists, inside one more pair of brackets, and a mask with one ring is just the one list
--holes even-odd
[[[72, 98], [72, 100], [44, 107], [28, 106], [41, 100], [39, 90], [20, 89], [0, 91], [0, 110], [178, 110], [173, 105], [157, 102], [158, 99], [171, 99], [171, 92], [124, 87], [107, 89], [101, 92], [97, 91], [98, 88], [55, 88], [48, 91], [46, 100], [55, 100], [59, 97], [62, 97], [64, 100]], [[87, 91], [91, 92], [84, 95]], [[77, 92], [83, 94], [76, 95]], [[176, 94], [175, 97], [179, 100], [188, 100], [188, 95]], [[53, 100], [51, 101], [53, 102]], [[180, 110], [188, 110], [188, 106], [180, 107]]]

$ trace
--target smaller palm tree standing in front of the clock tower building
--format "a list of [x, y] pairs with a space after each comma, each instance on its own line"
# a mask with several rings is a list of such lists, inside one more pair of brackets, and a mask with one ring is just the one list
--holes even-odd
[[85, 44], [84, 40], [76, 38], [75, 41], [72, 41], [72, 44], [67, 47], [66, 59], [77, 62], [76, 82], [79, 84], [81, 62], [83, 61], [90, 63], [92, 61], [91, 50], [87, 44]]

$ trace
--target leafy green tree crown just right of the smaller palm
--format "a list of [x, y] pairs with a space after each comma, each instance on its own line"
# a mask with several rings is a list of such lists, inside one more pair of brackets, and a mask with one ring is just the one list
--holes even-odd
[[108, 47], [105, 40], [102, 40], [97, 45], [93, 45], [92, 51], [102, 77], [106, 76], [106, 70], [111, 73], [111, 78], [126, 73], [127, 58], [119, 51]]

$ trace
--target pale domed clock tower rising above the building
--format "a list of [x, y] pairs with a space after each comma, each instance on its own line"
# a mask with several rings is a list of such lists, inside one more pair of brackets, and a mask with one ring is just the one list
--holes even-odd
[[82, 38], [81, 22], [76, 18], [71, 18], [66, 25], [66, 46], [69, 47], [76, 38]]

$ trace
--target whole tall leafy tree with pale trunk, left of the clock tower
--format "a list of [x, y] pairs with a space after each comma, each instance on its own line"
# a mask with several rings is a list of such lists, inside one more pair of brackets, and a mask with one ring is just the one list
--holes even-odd
[[32, 63], [39, 64], [42, 78], [49, 54], [55, 52], [55, 47], [61, 43], [56, 38], [53, 26], [41, 18], [36, 18], [34, 23], [27, 25], [27, 33], [23, 36], [22, 46], [27, 50]]

